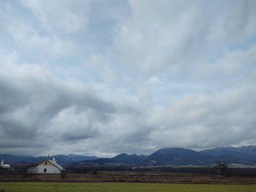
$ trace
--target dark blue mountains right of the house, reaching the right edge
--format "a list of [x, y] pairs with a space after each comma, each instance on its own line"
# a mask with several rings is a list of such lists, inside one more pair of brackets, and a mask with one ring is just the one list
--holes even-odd
[[[175, 165], [196, 165], [211, 166], [218, 161], [225, 161], [228, 164], [244, 164], [255, 165], [253, 160], [255, 146], [232, 148], [216, 148], [213, 150], [203, 150], [196, 152], [195, 150], [185, 148], [162, 148], [151, 154], [150, 156], [137, 156], [136, 154], [119, 154], [113, 158], [100, 158], [91, 161], [83, 161], [83, 163], [124, 163], [135, 165], [159, 165], [159, 166], [175, 166]], [[242, 153], [243, 152], [243, 153]], [[248, 158], [248, 159], [246, 159]]]

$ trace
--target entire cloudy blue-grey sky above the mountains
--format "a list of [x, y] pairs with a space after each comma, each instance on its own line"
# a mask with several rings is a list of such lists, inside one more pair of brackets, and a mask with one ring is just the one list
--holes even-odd
[[0, 153], [256, 145], [256, 1], [0, 1]]

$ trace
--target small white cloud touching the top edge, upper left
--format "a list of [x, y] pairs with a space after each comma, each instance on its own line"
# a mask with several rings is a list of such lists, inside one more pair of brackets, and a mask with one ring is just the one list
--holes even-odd
[[35, 1], [22, 4], [33, 10], [42, 28], [49, 33], [81, 33], [88, 29], [91, 1]]

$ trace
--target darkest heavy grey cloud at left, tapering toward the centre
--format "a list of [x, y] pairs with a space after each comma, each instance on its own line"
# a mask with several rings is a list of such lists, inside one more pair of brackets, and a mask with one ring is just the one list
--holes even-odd
[[[20, 70], [18, 65], [11, 65], [9, 63], [10, 68]], [[17, 142], [22, 141], [20, 138], [30, 140], [26, 142], [26, 147], [32, 147], [38, 138], [51, 140], [51, 133], [55, 135], [53, 139], [56, 136], [61, 140], [90, 138], [99, 135], [92, 122], [104, 124], [106, 114], [115, 110], [94, 93], [86, 92], [86, 88], [76, 89], [72, 84], [67, 85], [49, 74], [33, 74], [33, 67], [29, 65], [22, 74], [13, 73], [9, 67], [4, 68], [4, 73], [8, 75], [2, 72], [3, 78], [0, 79], [2, 139], [5, 137]], [[70, 108], [75, 110], [60, 118]], [[77, 118], [79, 115], [80, 118]], [[20, 143], [20, 146], [24, 147], [24, 143]]]

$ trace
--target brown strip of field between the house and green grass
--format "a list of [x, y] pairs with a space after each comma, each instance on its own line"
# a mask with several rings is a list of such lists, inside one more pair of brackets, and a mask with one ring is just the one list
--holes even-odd
[[68, 173], [65, 177], [53, 174], [0, 174], [0, 182], [151, 182], [175, 184], [256, 184], [255, 177], [173, 176], [173, 175], [93, 175]]

